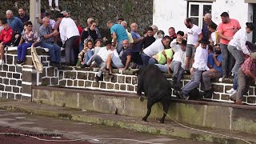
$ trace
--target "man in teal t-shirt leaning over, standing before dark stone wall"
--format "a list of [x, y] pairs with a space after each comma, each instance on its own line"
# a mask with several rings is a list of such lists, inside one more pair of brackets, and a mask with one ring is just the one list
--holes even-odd
[[120, 24], [114, 24], [112, 21], [108, 21], [106, 26], [110, 28], [110, 32], [113, 38], [113, 46], [116, 46], [118, 54], [122, 51], [123, 40], [128, 40], [126, 29]]

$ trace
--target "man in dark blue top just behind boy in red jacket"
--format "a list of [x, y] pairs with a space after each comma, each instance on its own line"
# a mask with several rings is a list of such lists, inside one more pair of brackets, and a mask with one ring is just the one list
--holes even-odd
[[11, 27], [12, 30], [14, 30], [14, 46], [18, 46], [18, 43], [20, 41], [22, 30], [23, 30], [23, 23], [22, 20], [20, 20], [17, 17], [14, 17], [14, 14], [11, 10], [6, 11], [6, 18], [8, 25]]

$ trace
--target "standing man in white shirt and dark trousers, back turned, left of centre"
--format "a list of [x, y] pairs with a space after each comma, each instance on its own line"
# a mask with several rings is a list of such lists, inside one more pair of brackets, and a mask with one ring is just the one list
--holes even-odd
[[[60, 18], [59, 33], [65, 43], [66, 66], [75, 66], [78, 54], [74, 54], [74, 46], [80, 36], [78, 27], [71, 18]], [[77, 50], [78, 51], [78, 50]]]

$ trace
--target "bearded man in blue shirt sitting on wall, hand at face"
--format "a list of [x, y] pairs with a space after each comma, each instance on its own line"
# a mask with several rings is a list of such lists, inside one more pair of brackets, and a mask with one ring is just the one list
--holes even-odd
[[210, 70], [202, 73], [202, 82], [205, 90], [204, 98], [211, 98], [214, 92], [211, 88], [210, 79], [222, 78], [222, 52], [219, 44], [215, 46], [215, 53], [212, 57], [208, 57], [208, 67]]

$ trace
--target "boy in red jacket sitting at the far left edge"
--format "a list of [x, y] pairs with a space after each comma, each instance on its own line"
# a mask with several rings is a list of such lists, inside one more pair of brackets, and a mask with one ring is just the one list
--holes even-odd
[[4, 64], [4, 48], [6, 46], [10, 46], [11, 38], [13, 37], [13, 30], [8, 26], [7, 21], [4, 19], [2, 20], [3, 30], [1, 31], [0, 35], [0, 66]]

